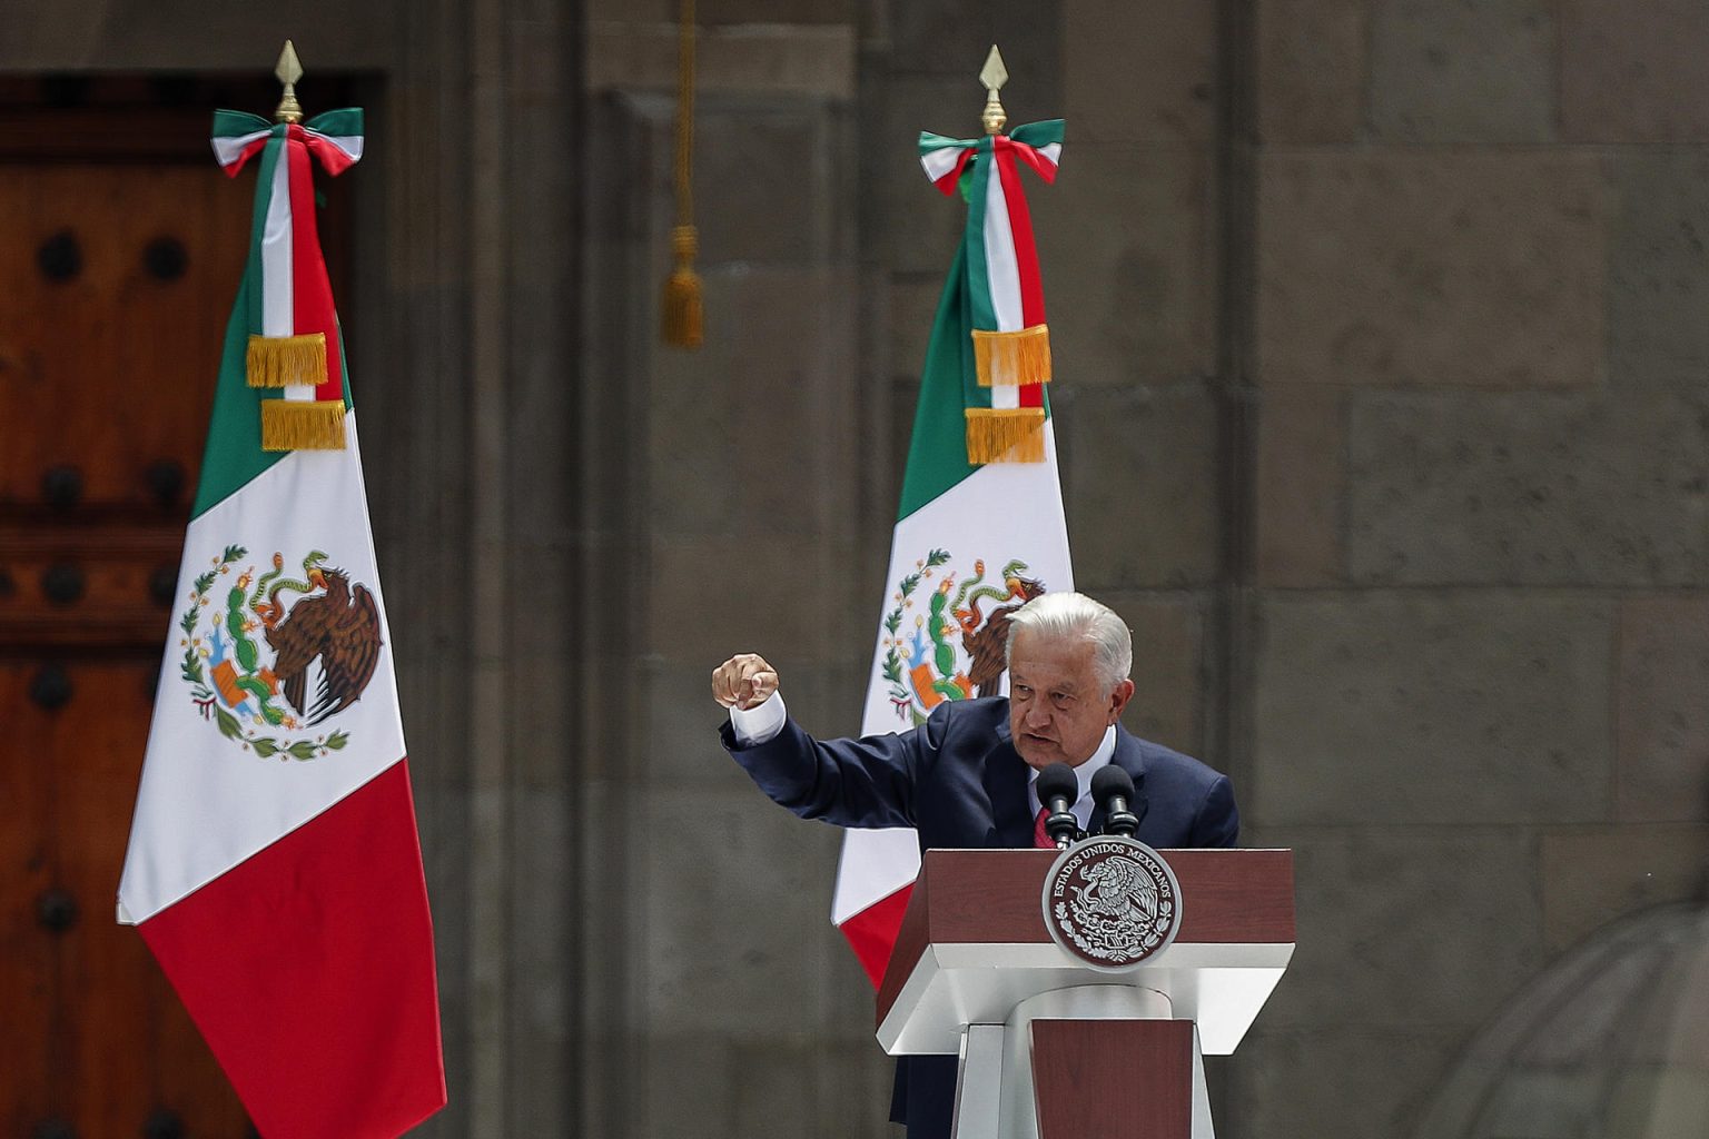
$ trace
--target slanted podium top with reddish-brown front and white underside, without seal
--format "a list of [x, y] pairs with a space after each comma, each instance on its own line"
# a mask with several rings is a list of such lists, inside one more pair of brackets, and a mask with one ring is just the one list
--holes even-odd
[[1205, 1052], [1232, 1052], [1294, 951], [1294, 852], [1159, 850], [1181, 885], [1181, 927], [1172, 946], [1118, 977], [1051, 941], [1042, 893], [1056, 854], [926, 850], [878, 985], [885, 1048], [955, 1052], [960, 1025], [1001, 1023], [1034, 992], [1133, 984], [1200, 1021]]

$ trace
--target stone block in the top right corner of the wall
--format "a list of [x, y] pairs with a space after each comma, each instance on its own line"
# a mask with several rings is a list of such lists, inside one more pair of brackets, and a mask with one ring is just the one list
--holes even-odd
[[1560, 135], [1709, 142], [1709, 9], [1692, 0], [1560, 5]]

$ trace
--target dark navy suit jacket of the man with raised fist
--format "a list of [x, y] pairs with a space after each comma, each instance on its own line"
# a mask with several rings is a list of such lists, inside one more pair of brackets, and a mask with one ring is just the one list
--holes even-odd
[[[919, 727], [813, 739], [791, 719], [767, 743], [725, 748], [772, 801], [837, 827], [913, 827], [919, 849], [1031, 847], [1027, 765], [1008, 736], [1008, 700], [947, 700]], [[1241, 816], [1227, 775], [1116, 726], [1111, 762], [1133, 777], [1135, 835], [1150, 847], [1232, 847]], [[1104, 825], [1092, 811], [1089, 830]], [[955, 1057], [902, 1057], [890, 1119], [909, 1139], [947, 1139]]]

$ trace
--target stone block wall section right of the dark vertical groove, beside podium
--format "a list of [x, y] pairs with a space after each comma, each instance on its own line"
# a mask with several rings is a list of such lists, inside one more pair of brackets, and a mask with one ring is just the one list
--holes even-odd
[[1700, 885], [1709, 19], [1253, 15], [1244, 804], [1301, 949], [1236, 1115], [1398, 1136], [1555, 955]]

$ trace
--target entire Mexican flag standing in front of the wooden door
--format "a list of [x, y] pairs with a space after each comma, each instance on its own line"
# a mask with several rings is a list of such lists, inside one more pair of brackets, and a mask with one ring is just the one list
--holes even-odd
[[313, 164], [361, 111], [220, 111], [256, 167], [118, 890], [268, 1139], [398, 1136], [444, 1105], [432, 926]]

